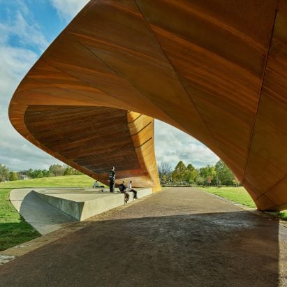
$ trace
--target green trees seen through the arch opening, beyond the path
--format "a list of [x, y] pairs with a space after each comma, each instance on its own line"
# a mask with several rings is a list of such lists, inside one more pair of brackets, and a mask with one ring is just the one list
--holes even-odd
[[162, 185], [240, 185], [233, 172], [221, 160], [203, 168], [194, 168], [191, 163], [186, 166], [182, 161], [177, 163], [174, 170], [167, 162], [161, 162], [157, 167]]

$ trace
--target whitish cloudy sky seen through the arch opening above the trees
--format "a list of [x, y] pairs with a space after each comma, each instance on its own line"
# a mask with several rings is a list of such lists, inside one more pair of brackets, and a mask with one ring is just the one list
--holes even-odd
[[186, 165], [191, 163], [200, 168], [219, 161], [219, 157], [208, 147], [177, 128], [158, 120], [154, 126], [157, 162], [166, 161], [174, 168], [179, 161], [183, 161]]

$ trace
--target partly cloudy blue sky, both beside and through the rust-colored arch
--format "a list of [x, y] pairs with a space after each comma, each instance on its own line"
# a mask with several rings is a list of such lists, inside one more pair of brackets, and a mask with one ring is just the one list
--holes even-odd
[[[43, 51], [88, 0], [0, 0], [0, 163], [10, 170], [49, 168], [60, 163], [15, 131], [8, 105], [17, 85]], [[219, 158], [205, 145], [156, 121], [156, 160], [197, 168]]]

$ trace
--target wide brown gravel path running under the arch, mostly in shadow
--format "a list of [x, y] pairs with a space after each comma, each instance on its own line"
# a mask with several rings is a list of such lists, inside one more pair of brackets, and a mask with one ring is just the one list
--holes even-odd
[[[287, 228], [168, 189], [0, 266], [0, 286], [284, 286]], [[59, 230], [60, 231], [60, 230]]]

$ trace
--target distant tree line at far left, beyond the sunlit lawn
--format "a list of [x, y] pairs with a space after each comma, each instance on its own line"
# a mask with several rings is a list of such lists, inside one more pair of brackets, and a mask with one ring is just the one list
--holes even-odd
[[53, 164], [48, 170], [21, 170], [19, 172], [11, 171], [5, 165], [0, 163], [0, 182], [13, 181], [22, 179], [23, 177], [42, 178], [42, 177], [57, 177], [61, 175], [82, 175], [82, 172], [75, 170], [69, 165]]

